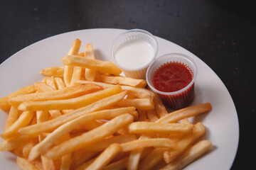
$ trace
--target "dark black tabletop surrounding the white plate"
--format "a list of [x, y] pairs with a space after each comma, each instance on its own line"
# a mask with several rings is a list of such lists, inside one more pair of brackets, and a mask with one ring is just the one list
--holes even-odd
[[240, 142], [232, 169], [254, 168], [256, 12], [250, 1], [0, 2], [0, 63], [33, 42], [87, 28], [141, 28], [186, 48], [218, 74], [235, 103]]

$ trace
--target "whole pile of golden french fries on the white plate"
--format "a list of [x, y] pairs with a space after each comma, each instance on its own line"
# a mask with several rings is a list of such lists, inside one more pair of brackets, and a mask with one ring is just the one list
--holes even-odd
[[202, 103], [168, 113], [144, 79], [122, 77], [112, 62], [95, 60], [92, 44], [74, 40], [63, 67], [41, 70], [43, 81], [0, 98], [9, 113], [1, 151], [21, 169], [183, 169], [212, 143], [188, 118]]

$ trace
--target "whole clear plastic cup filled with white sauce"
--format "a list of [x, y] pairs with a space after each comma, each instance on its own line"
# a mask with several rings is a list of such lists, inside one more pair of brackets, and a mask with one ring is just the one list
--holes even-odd
[[110, 49], [112, 62], [126, 77], [146, 79], [146, 69], [156, 58], [158, 44], [146, 30], [127, 30], [119, 35]]

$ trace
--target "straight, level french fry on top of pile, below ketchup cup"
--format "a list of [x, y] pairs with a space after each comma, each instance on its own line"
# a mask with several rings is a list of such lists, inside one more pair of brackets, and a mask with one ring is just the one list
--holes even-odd
[[129, 125], [131, 133], [191, 133], [193, 125], [181, 123], [136, 122]]

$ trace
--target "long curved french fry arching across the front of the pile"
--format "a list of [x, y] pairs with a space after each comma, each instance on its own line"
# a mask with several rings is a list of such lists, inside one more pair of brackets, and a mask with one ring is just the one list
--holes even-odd
[[134, 110], [135, 108], [132, 107], [103, 110], [97, 111], [95, 113], [88, 113], [86, 115], [80, 116], [79, 118], [75, 118], [74, 120], [70, 120], [68, 123], [61, 125], [59, 128], [51, 132], [50, 135], [48, 135], [42, 142], [38, 143], [38, 145], [33, 147], [33, 149], [31, 149], [28, 159], [30, 161], [36, 159], [36, 157], [38, 157], [41, 152], [53, 145], [54, 142], [58, 140], [62, 135], [67, 134], [68, 132], [70, 132], [77, 126], [82, 125], [83, 123], [87, 123], [92, 120], [114, 118], [118, 115], [129, 113]]

